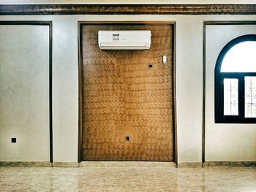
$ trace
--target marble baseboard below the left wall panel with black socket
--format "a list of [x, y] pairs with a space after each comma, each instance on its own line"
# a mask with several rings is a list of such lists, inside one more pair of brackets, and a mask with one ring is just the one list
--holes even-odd
[[52, 164], [48, 161], [0, 161], [0, 166], [41, 166], [50, 167]]

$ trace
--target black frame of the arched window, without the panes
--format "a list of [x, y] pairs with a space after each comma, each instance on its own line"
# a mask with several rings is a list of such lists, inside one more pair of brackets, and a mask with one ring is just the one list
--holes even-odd
[[[214, 70], [215, 123], [256, 123], [256, 118], [244, 116], [244, 77], [255, 76], [256, 72], [220, 72], [226, 53], [240, 42], [256, 41], [256, 34], [237, 37], [222, 48]], [[256, 53], [255, 53], [256, 54]], [[238, 115], [224, 115], [224, 79], [238, 79]]]

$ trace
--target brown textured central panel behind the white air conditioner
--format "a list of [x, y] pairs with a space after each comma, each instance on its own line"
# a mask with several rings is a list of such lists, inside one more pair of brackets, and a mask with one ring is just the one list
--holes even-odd
[[[151, 30], [151, 48], [100, 50], [99, 30]], [[173, 25], [84, 24], [80, 33], [81, 160], [174, 161]]]

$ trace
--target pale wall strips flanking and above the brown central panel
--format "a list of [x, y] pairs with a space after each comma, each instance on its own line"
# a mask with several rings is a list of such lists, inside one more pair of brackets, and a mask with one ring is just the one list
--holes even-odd
[[[176, 21], [177, 134], [181, 163], [201, 162], [202, 158], [203, 21], [256, 20], [256, 16], [37, 15], [1, 16], [0, 20], [53, 20], [53, 161], [78, 160], [78, 20]], [[250, 152], [249, 149], [244, 153]], [[212, 150], [212, 153], [216, 152]], [[218, 160], [211, 158], [215, 159]], [[252, 160], [256, 161], [256, 155], [244, 158], [244, 161]]]

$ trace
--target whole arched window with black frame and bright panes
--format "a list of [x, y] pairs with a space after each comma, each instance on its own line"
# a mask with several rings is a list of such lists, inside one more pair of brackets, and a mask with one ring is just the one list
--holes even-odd
[[228, 42], [215, 66], [215, 123], [256, 123], [256, 35]]

